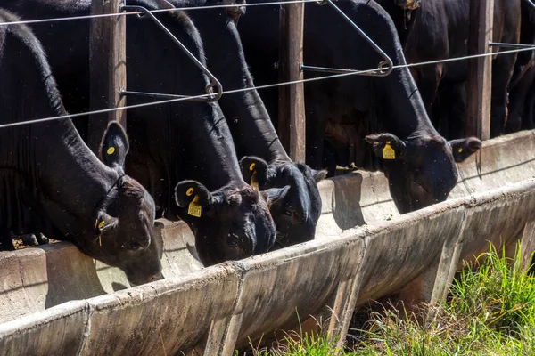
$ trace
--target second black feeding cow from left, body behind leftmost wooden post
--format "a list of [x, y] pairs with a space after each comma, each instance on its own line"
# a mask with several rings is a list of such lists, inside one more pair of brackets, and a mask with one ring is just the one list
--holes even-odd
[[[165, 5], [158, 3], [128, 1], [150, 10]], [[11, 4], [25, 18], [37, 19], [87, 15], [91, 2], [13, 0]], [[203, 59], [201, 38], [184, 12], [157, 17]], [[72, 94], [64, 100], [72, 112], [89, 109], [89, 25], [88, 20], [76, 20], [33, 26], [50, 49], [62, 93]], [[127, 76], [128, 89], [136, 92], [196, 95], [205, 93], [209, 85], [193, 61], [146, 16], [127, 18]], [[145, 101], [128, 98], [129, 105]], [[268, 204], [243, 181], [234, 142], [217, 103], [175, 102], [128, 109], [127, 116], [128, 174], [151, 191], [166, 217], [180, 217], [190, 226], [202, 263], [243, 258], [273, 246], [276, 228]]]

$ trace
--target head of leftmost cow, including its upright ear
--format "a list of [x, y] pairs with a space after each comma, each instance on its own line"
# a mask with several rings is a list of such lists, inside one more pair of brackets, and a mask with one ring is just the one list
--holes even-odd
[[104, 134], [103, 162], [119, 179], [95, 209], [89, 239], [80, 249], [104, 263], [125, 271], [132, 285], [161, 279], [161, 241], [154, 239], [154, 201], [136, 180], [124, 174], [128, 138], [117, 122]]

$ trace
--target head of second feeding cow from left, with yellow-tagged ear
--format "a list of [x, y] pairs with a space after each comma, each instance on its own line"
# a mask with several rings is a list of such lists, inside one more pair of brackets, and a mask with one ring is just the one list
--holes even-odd
[[275, 242], [268, 204], [250, 186], [210, 192], [200, 182], [183, 181], [175, 200], [205, 266], [268, 252]]

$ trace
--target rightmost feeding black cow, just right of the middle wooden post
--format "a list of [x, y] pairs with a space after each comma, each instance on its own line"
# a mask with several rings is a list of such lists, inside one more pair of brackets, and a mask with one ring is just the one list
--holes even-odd
[[[259, 2], [259, 1], [256, 1]], [[387, 53], [394, 65], [405, 64], [390, 16], [374, 2], [336, 3]], [[354, 28], [328, 6], [305, 5], [304, 61], [308, 65], [346, 69], [374, 69], [380, 57]], [[278, 8], [248, 8], [238, 29], [251, 71], [258, 85], [277, 81]], [[317, 77], [310, 75], [307, 77]], [[265, 91], [264, 102], [276, 114], [276, 90]], [[433, 128], [408, 69], [394, 69], [388, 77], [338, 77], [305, 85], [307, 158], [310, 166], [324, 166], [324, 138], [337, 163], [366, 170], [383, 170], [401, 213], [448, 197], [457, 183], [457, 166], [481, 147], [475, 138], [447, 142]], [[376, 134], [382, 133], [382, 134]], [[371, 148], [366, 146], [371, 143]], [[348, 148], [350, 144], [357, 145]], [[346, 152], [342, 152], [345, 150]], [[330, 170], [333, 171], [333, 166]]]

